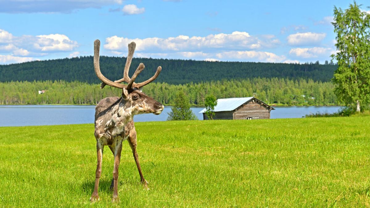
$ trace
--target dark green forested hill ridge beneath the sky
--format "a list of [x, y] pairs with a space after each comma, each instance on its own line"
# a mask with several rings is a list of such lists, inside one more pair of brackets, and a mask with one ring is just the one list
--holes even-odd
[[[34, 80], [65, 80], [100, 83], [95, 76], [92, 56], [64, 58], [46, 61], [31, 61], [20, 64], [0, 65], [0, 82], [34, 81]], [[123, 76], [125, 57], [100, 57], [102, 74], [110, 80], [118, 80]], [[139, 63], [145, 69], [137, 78], [137, 82], [153, 76], [158, 66], [162, 66], [157, 82], [169, 84], [199, 83], [202, 81], [223, 79], [245, 79], [253, 77], [279, 78], [311, 78], [314, 81], [330, 81], [336, 69], [331, 64], [283, 64], [253, 62], [223, 62], [168, 60], [153, 58], [134, 58], [130, 76]]]

